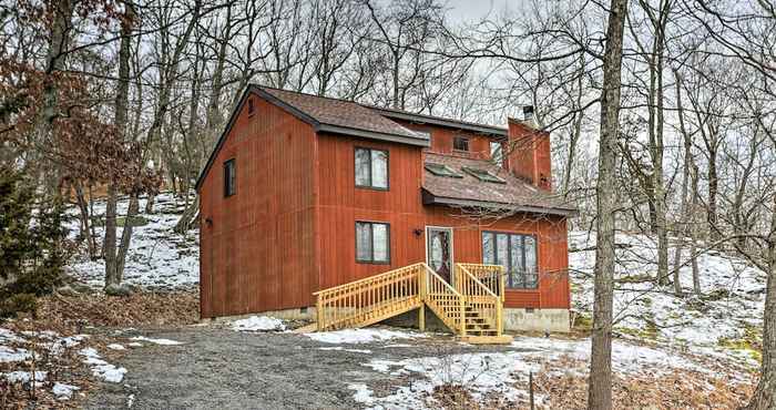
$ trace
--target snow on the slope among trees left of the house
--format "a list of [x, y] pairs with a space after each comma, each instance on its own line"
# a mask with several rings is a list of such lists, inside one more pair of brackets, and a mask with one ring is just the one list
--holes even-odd
[[[193, 201], [193, 197], [191, 198]], [[162, 193], [155, 198], [154, 214], [145, 214], [145, 198], [140, 199], [142, 218], [146, 225], [134, 226], [132, 242], [124, 270], [124, 281], [129, 285], [146, 289], [188, 289], [200, 281], [200, 248], [198, 234], [192, 230], [186, 235], [173, 232], [173, 227], [185, 208], [183, 199], [175, 198], [170, 193]], [[116, 206], [118, 216], [126, 215], [129, 199], [122, 198]], [[104, 221], [105, 202], [93, 203], [93, 219]], [[70, 235], [75, 237], [79, 233], [79, 212], [76, 208], [68, 209], [69, 222], [67, 227]], [[104, 236], [104, 228], [95, 226], [99, 240]], [[116, 229], [121, 237], [123, 228]], [[68, 273], [93, 288], [104, 286], [104, 260], [90, 260], [85, 250], [68, 266]]]

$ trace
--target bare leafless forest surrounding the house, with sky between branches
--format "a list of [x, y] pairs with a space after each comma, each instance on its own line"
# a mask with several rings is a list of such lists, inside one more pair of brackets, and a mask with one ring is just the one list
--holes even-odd
[[194, 184], [248, 84], [493, 125], [533, 106], [570, 228], [595, 234], [582, 407], [614, 406], [624, 233], [654, 240], [647, 293], [707, 296], [709, 254], [762, 273], [741, 404], [776, 409], [776, 4], [481, 3], [0, 1], [2, 316], [76, 255], [101, 260], [105, 295], [132, 293], [132, 222], [172, 197], [170, 234], [197, 229]]

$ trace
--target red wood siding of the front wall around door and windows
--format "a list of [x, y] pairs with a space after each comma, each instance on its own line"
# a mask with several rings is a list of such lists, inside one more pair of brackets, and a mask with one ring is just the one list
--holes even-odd
[[[356, 147], [388, 151], [389, 189], [355, 186]], [[323, 288], [426, 260], [426, 226], [453, 228], [453, 262], [482, 263], [482, 230], [531, 234], [538, 237], [540, 271], [568, 267], [566, 224], [560, 217], [511, 216], [476, 222], [448, 207], [423, 206], [420, 197], [421, 150], [407, 145], [318, 136], [316, 222]], [[357, 221], [390, 225], [390, 263], [356, 262]], [[416, 233], [419, 233], [416, 234]], [[569, 284], [563, 276], [543, 277], [539, 289], [508, 290], [506, 307], [568, 308]]]

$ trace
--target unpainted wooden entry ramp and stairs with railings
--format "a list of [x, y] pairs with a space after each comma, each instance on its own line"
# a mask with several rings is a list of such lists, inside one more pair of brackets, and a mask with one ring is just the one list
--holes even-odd
[[458, 338], [472, 344], [508, 344], [503, 335], [503, 268], [456, 264], [448, 284], [423, 263], [315, 293], [318, 331], [365, 327], [428, 307]]

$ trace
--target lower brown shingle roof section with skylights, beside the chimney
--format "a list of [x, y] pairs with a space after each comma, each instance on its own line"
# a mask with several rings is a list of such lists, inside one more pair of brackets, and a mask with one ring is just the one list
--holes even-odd
[[[472, 160], [436, 153], [426, 154], [426, 163], [445, 164], [463, 177], [451, 178], [425, 171], [423, 202], [426, 204], [472, 205], [514, 208], [519, 211], [574, 214], [576, 209], [564, 203], [560, 195], [538, 187], [513, 176], [500, 166], [484, 160]], [[482, 182], [462, 167], [487, 170], [504, 180], [506, 184]]]

